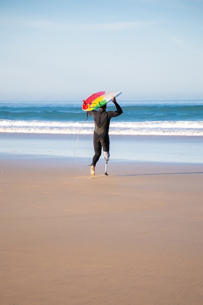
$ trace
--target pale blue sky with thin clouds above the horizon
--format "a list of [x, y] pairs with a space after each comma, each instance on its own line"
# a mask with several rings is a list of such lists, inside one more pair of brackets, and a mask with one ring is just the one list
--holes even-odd
[[203, 0], [0, 0], [0, 100], [203, 99]]

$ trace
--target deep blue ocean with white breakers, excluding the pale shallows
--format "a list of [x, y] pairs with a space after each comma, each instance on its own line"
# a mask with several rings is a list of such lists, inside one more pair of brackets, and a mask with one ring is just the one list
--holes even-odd
[[[203, 100], [119, 101], [110, 134], [203, 136]], [[82, 101], [1, 101], [0, 133], [92, 134]], [[107, 110], [114, 110], [112, 102]], [[87, 119], [87, 120], [86, 120]]]

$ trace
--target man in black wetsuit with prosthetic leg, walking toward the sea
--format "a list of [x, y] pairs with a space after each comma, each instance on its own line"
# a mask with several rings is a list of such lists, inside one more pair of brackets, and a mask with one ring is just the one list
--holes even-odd
[[111, 117], [115, 117], [123, 113], [121, 107], [116, 102], [115, 97], [113, 97], [112, 102], [115, 104], [116, 111], [106, 111], [107, 105], [102, 106], [98, 111], [89, 111], [89, 114], [93, 116], [95, 126], [93, 135], [94, 156], [91, 165], [92, 176], [95, 174], [95, 165], [101, 156], [102, 148], [105, 161], [109, 161], [109, 125]]

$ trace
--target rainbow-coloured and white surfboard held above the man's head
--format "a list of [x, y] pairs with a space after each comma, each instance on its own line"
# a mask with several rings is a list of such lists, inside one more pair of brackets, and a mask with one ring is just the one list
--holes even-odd
[[122, 92], [114, 91], [99, 91], [90, 95], [86, 100], [83, 100], [82, 110], [92, 111], [109, 103], [113, 97], [121, 95]]

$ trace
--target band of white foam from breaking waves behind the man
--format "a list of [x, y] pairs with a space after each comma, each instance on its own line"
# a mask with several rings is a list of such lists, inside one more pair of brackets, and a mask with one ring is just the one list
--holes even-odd
[[[1, 133], [92, 134], [94, 123], [0, 120]], [[203, 136], [203, 121], [111, 122], [110, 134]]]

